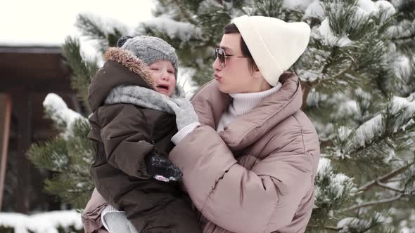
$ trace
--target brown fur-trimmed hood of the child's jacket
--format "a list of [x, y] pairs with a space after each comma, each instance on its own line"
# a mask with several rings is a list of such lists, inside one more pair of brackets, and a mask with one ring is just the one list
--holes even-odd
[[[143, 88], [152, 90], [145, 91], [151, 93], [153, 97], [161, 95], [155, 92], [155, 82], [151, 79], [148, 66], [129, 51], [122, 48], [108, 48], [105, 54], [105, 60], [106, 62], [103, 67], [96, 72], [96, 75], [89, 85], [88, 101], [92, 112], [95, 112], [104, 103], [122, 102], [120, 100], [125, 99], [123, 98], [125, 96], [129, 96], [130, 101], [127, 103], [136, 104], [132, 98], [142, 98], [143, 95], [136, 95], [134, 92], [128, 93], [128, 91], [137, 91], [139, 90], [137, 88], [140, 87], [141, 90], [144, 90]], [[126, 86], [129, 88], [122, 88]], [[118, 91], [114, 91], [115, 88]], [[178, 84], [176, 84], [175, 91], [175, 96], [177, 97], [184, 95], [184, 91], [182, 91]], [[106, 101], [110, 94], [112, 95], [112, 102]], [[148, 98], [151, 97], [148, 96]], [[146, 102], [146, 100], [141, 102]]]

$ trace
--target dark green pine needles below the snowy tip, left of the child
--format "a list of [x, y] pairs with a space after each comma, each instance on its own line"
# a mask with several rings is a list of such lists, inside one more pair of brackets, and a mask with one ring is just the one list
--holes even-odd
[[45, 180], [45, 190], [56, 195], [74, 208], [84, 208], [94, 185], [89, 175], [94, 154], [87, 139], [89, 124], [78, 119], [72, 124], [71, 135], [60, 135], [41, 144], [33, 144], [28, 158], [40, 169], [53, 172], [53, 178]]

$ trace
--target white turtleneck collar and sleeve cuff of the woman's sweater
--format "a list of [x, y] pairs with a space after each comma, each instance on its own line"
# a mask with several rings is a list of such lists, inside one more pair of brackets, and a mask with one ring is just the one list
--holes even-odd
[[[229, 125], [231, 121], [233, 121], [237, 116], [242, 116], [250, 112], [254, 107], [256, 107], [264, 98], [267, 98], [269, 95], [272, 95], [279, 91], [281, 88], [281, 83], [277, 83], [276, 86], [261, 92], [255, 93], [236, 93], [236, 94], [229, 94], [231, 98], [233, 98], [231, 104], [228, 106], [224, 114], [222, 114], [219, 124], [217, 125], [216, 131], [220, 132], [224, 130], [224, 127]], [[172, 142], [175, 145], [179, 144], [179, 142], [186, 137], [193, 129], [200, 125], [199, 122], [195, 122], [193, 124], [189, 124], [188, 126], [182, 128], [179, 132], [177, 132], [172, 137]]]

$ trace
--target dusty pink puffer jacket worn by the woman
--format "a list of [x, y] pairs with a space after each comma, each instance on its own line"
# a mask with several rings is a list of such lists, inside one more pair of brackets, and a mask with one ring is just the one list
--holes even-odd
[[297, 76], [286, 72], [280, 81], [281, 90], [220, 133], [229, 95], [214, 80], [193, 97], [202, 126], [174, 147], [170, 160], [183, 172], [204, 233], [305, 231], [314, 206], [319, 140], [300, 110]]

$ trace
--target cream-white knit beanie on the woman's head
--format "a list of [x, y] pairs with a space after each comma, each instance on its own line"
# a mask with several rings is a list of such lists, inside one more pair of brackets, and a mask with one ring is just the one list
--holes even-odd
[[305, 22], [243, 15], [232, 20], [264, 79], [276, 86], [279, 76], [304, 53], [311, 32]]

